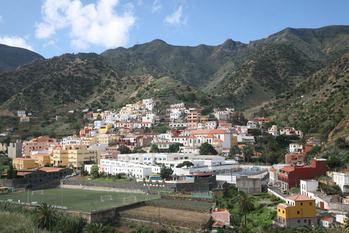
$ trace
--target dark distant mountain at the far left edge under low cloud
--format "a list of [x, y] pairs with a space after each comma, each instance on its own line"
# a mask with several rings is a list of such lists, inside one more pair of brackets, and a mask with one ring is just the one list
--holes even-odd
[[13, 70], [40, 58], [43, 56], [28, 49], [0, 44], [0, 71]]

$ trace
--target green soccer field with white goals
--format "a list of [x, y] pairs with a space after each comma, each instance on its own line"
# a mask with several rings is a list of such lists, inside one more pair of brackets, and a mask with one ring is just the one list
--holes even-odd
[[[32, 202], [40, 204], [42, 202], [51, 206], [75, 211], [91, 212], [95, 210], [106, 209], [110, 207], [123, 206], [135, 202], [148, 201], [158, 199], [160, 196], [123, 193], [123, 192], [108, 192], [95, 190], [80, 190], [80, 189], [44, 189], [40, 191], [25, 191], [24, 193], [3, 194], [0, 195], [0, 200], [12, 202], [20, 202], [23, 205], [29, 205]], [[63, 202], [63, 205], [62, 205]], [[24, 204], [25, 203], [25, 204]]]

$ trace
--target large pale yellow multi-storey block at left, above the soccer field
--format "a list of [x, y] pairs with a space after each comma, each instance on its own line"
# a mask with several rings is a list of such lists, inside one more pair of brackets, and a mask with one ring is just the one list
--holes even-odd
[[66, 145], [60, 150], [53, 150], [51, 163], [80, 170], [82, 164], [89, 164], [90, 161], [100, 163], [101, 150], [87, 149], [86, 145]]

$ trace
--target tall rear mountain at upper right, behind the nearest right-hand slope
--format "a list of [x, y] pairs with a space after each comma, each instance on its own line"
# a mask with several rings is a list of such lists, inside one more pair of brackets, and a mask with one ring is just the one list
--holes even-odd
[[286, 28], [251, 41], [247, 50], [247, 61], [219, 84], [209, 83], [209, 93], [245, 107], [270, 100], [348, 52], [349, 26]]

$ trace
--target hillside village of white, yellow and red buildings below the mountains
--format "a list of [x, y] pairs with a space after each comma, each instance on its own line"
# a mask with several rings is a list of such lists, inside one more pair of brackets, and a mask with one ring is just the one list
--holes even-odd
[[[247, 120], [233, 108], [213, 108], [206, 115], [203, 110], [187, 108], [182, 102], [172, 104], [166, 116], [159, 115], [154, 99], [128, 104], [118, 112], [71, 110], [84, 114], [86, 124], [76, 130], [78, 134], [61, 140], [41, 136], [9, 143], [7, 153], [17, 180], [12, 185], [35, 189], [62, 178], [76, 185], [70, 177], [81, 172], [93, 174], [97, 166], [97, 176], [124, 174], [134, 179], [137, 187], [153, 191], [209, 190], [216, 198], [232, 187], [246, 195], [268, 192], [286, 202], [277, 206], [274, 226], [340, 228], [335, 214], [331, 218], [328, 212], [319, 215], [315, 209], [349, 212], [345, 198], [349, 173], [329, 169], [328, 163], [333, 161], [316, 156], [326, 141], [305, 140], [301, 130], [278, 129], [268, 118]], [[17, 116], [22, 124], [30, 124], [30, 113], [18, 111]], [[154, 133], [160, 125], [168, 130]], [[158, 179], [156, 175], [164, 171], [171, 172]], [[1, 178], [8, 179], [8, 174]], [[38, 175], [45, 178], [34, 179]], [[297, 210], [302, 210], [304, 203], [312, 208], [300, 216]], [[228, 218], [217, 216], [223, 212]], [[213, 210], [213, 229], [232, 227], [229, 216], [227, 210]]]

